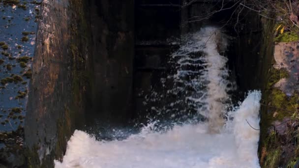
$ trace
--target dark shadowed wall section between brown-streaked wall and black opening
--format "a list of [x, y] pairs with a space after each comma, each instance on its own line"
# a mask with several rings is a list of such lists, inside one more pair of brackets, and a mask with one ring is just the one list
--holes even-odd
[[125, 123], [132, 113], [134, 0], [90, 0], [94, 87], [89, 123]]

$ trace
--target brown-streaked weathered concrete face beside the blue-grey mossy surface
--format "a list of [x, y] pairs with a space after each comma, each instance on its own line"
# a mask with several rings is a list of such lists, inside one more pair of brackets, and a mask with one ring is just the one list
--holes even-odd
[[29, 167], [53, 167], [84, 123], [90, 67], [86, 6], [84, 0], [42, 2], [25, 125]]

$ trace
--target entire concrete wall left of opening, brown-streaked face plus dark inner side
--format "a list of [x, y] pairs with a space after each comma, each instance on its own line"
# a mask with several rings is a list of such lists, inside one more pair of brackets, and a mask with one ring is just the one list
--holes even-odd
[[53, 167], [86, 118], [131, 113], [133, 0], [44, 0], [26, 116], [27, 165]]

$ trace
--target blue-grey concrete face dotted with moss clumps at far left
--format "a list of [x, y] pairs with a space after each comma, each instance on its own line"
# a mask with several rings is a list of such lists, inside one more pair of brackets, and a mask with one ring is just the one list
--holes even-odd
[[25, 164], [24, 118], [40, 1], [0, 0], [0, 167]]

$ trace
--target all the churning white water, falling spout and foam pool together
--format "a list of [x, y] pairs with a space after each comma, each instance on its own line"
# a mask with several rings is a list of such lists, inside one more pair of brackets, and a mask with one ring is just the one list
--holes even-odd
[[[157, 122], [152, 121], [139, 134], [112, 141], [97, 141], [77, 130], [63, 162], [55, 161], [56, 168], [259, 168], [255, 129], [261, 93], [249, 91], [238, 107], [227, 110], [232, 88], [227, 58], [219, 54], [226, 44], [216, 28], [202, 28], [172, 55], [177, 61], [175, 85], [180, 91], [192, 88], [185, 101], [191, 101], [205, 121], [175, 125], [166, 132], [156, 131]], [[201, 56], [192, 54], [197, 52]], [[194, 71], [190, 65], [202, 68]]]

